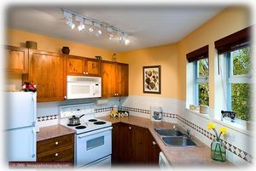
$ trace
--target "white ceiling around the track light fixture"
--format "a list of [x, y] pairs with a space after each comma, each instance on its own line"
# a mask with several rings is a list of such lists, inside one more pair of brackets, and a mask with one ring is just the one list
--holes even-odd
[[[131, 32], [129, 46], [90, 35], [88, 31], [71, 30], [65, 23], [61, 8], [72, 10], [90, 18], [107, 22]], [[113, 51], [148, 48], [177, 43], [214, 15], [224, 6], [12, 6], [7, 10], [7, 25], [50, 37], [84, 43]]]

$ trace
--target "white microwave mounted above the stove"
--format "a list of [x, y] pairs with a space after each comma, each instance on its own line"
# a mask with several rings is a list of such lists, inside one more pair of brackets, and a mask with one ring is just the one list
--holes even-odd
[[102, 97], [101, 77], [67, 76], [67, 100]]

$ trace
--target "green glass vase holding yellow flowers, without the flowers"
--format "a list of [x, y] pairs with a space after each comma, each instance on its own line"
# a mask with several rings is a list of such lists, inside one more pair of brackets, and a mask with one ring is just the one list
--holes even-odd
[[221, 140], [213, 140], [211, 144], [211, 157], [215, 161], [226, 161], [226, 149]]

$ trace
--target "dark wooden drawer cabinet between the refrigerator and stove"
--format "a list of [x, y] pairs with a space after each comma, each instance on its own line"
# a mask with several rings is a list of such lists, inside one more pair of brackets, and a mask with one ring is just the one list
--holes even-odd
[[38, 141], [37, 162], [74, 162], [74, 135]]

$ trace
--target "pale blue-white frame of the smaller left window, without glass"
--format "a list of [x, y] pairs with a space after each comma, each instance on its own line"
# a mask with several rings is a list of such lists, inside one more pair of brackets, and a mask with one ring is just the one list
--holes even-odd
[[[199, 104], [199, 83], [207, 83], [209, 85], [209, 58], [201, 59], [201, 60], [208, 60], [208, 76], [201, 77], [199, 76], [199, 61], [196, 60], [193, 62], [193, 68], [194, 68], [194, 103], [195, 105]], [[208, 94], [209, 95], [209, 94]]]

